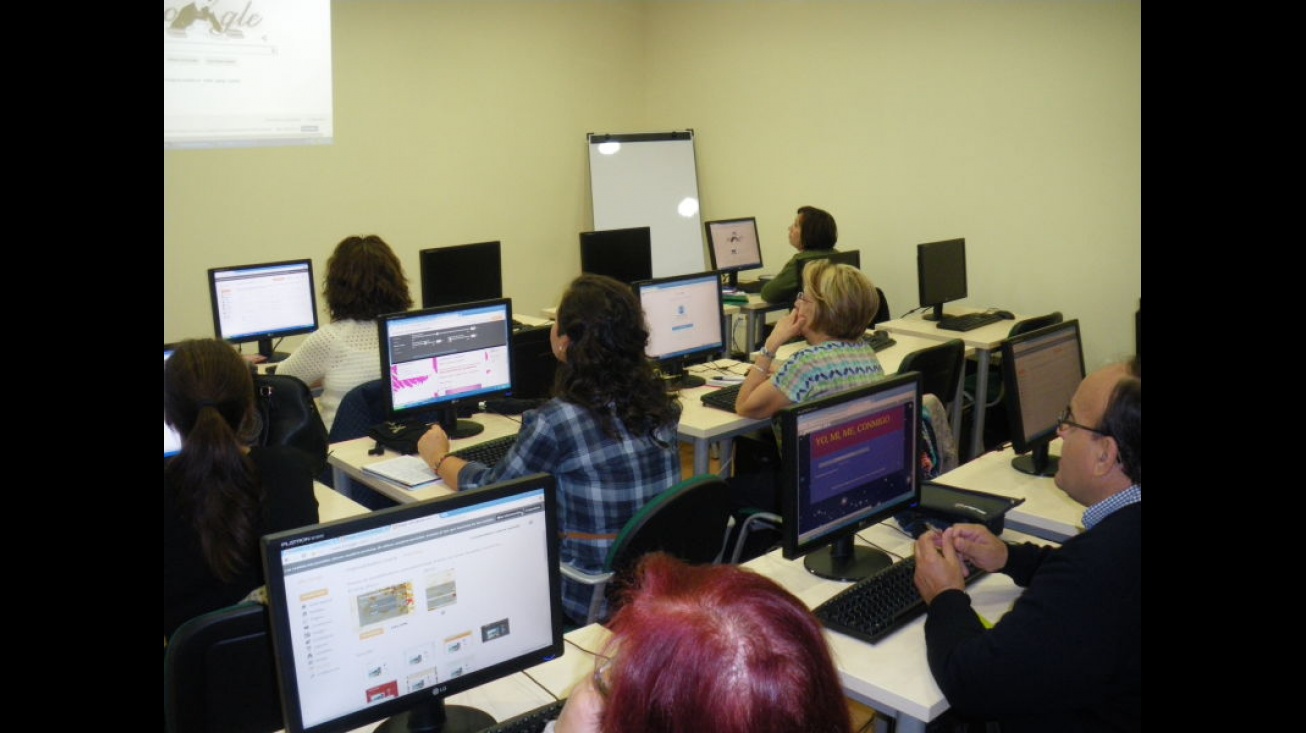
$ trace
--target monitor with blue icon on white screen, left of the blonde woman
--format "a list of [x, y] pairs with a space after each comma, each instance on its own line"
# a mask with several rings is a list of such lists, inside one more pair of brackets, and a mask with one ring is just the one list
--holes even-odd
[[645, 354], [657, 362], [667, 389], [705, 383], [684, 371], [693, 361], [716, 358], [726, 348], [721, 278], [716, 272], [660, 277], [635, 284], [649, 327]]

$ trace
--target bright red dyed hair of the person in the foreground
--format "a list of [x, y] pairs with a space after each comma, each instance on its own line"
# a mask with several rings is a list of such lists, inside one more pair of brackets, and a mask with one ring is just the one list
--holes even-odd
[[774, 580], [653, 553], [622, 598], [605, 733], [849, 733], [820, 622]]

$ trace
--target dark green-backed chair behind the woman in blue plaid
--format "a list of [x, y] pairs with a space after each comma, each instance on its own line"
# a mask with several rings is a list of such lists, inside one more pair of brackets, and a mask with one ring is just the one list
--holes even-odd
[[567, 563], [562, 563], [562, 572], [594, 588], [586, 623], [602, 622], [610, 589], [640, 557], [661, 550], [693, 564], [721, 562], [729, 524], [730, 494], [725, 480], [714, 473], [693, 476], [635, 512], [607, 550], [601, 572], [585, 572]]

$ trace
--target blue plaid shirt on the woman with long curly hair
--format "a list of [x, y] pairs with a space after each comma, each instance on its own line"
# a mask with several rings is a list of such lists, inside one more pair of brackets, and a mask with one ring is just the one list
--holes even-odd
[[[675, 423], [658, 430], [661, 446], [649, 436], [632, 436], [615, 418], [614, 423], [620, 440], [605, 435], [588, 409], [550, 400], [522, 414], [517, 442], [498, 465], [469, 463], [458, 473], [458, 487], [551, 473], [558, 481], [562, 561], [601, 572], [622, 527], [649, 499], [680, 481]], [[563, 578], [563, 609], [573, 621], [585, 621], [592, 596], [593, 587]]]

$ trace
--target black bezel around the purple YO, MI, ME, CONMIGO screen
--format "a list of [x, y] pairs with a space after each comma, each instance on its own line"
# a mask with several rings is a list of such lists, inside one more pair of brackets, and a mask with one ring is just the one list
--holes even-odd
[[[846, 519], [837, 527], [832, 527], [823, 532], [821, 534], [815, 534], [803, 540], [801, 537], [802, 528], [797, 521], [798, 517], [798, 503], [801, 500], [801, 490], [798, 486], [799, 480], [799, 442], [798, 442], [798, 421], [808, 413], [836, 408], [846, 402], [875, 399], [883, 392], [892, 392], [901, 389], [906, 384], [913, 384], [913, 391], [916, 396], [913, 397], [914, 415], [912, 417], [910, 425], [906, 426], [908, 435], [908, 463], [912, 466], [912, 485], [913, 490], [910, 497], [899, 500], [897, 503], [879, 506], [870, 513], [862, 515], [857, 519]], [[842, 392], [836, 392], [833, 395], [824, 395], [815, 400], [791, 405], [780, 410], [777, 413], [780, 419], [780, 463], [781, 463], [781, 485], [780, 485], [780, 511], [784, 517], [780, 523], [781, 527], [781, 554], [785, 559], [797, 559], [812, 553], [820, 551], [823, 549], [831, 547], [838, 541], [852, 540], [858, 532], [862, 532], [867, 527], [872, 527], [892, 517], [893, 515], [912, 508], [921, 502], [921, 460], [919, 460], [919, 439], [921, 439], [921, 374], [916, 371], [896, 374], [892, 376], [885, 376], [870, 384], [862, 387], [854, 387], [852, 389], [845, 389]], [[791, 519], [793, 517], [793, 519]]]

